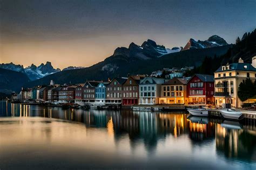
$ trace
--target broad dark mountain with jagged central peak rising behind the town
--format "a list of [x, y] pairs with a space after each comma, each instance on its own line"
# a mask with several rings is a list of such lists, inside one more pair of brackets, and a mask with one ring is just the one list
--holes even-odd
[[[56, 83], [81, 83], [88, 80], [105, 80], [107, 77], [127, 76], [127, 74], [149, 74], [154, 70], [162, 68], [199, 66], [205, 56], [223, 55], [232, 45], [198, 48], [180, 51], [181, 48], [173, 48], [172, 53], [163, 55], [160, 52], [166, 49], [163, 46], [156, 46], [151, 40], [143, 42], [138, 46], [133, 42], [129, 48], [119, 47], [113, 55], [91, 67], [82, 69], [63, 70], [26, 84], [26, 87], [33, 87], [39, 84], [49, 84], [51, 80]], [[157, 48], [159, 47], [159, 48]], [[160, 50], [161, 48], [161, 50]], [[150, 52], [151, 51], [151, 52]], [[166, 50], [167, 51], [167, 50]], [[179, 51], [179, 52], [174, 52]]]

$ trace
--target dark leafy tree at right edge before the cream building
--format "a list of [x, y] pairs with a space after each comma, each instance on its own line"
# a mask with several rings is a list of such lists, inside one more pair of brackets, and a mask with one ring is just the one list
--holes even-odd
[[243, 80], [238, 87], [238, 97], [242, 102], [248, 100], [255, 95], [255, 83], [251, 79]]

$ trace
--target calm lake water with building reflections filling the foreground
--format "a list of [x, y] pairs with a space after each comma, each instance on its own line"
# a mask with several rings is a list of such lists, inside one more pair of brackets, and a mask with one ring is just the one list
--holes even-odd
[[255, 169], [256, 127], [185, 112], [0, 102], [0, 169], [56, 168]]

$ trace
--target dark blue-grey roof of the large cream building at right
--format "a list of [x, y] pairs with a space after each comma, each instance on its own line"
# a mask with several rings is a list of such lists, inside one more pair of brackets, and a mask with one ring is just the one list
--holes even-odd
[[222, 70], [223, 66], [220, 66], [215, 73], [218, 72], [228, 72], [232, 70], [238, 70], [238, 71], [253, 71], [256, 72], [256, 68], [254, 68], [251, 63], [231, 63], [229, 64], [230, 69]]

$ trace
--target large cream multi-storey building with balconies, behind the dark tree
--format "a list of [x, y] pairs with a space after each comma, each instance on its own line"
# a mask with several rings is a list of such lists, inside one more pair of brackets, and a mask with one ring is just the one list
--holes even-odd
[[238, 63], [221, 66], [214, 73], [214, 98], [218, 107], [230, 104], [231, 107], [241, 108], [242, 101], [238, 97], [239, 84], [246, 79], [253, 82], [256, 79], [256, 56], [253, 57], [252, 65], [244, 63], [240, 58]]

